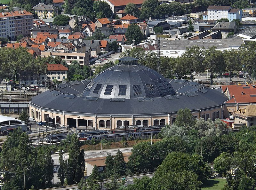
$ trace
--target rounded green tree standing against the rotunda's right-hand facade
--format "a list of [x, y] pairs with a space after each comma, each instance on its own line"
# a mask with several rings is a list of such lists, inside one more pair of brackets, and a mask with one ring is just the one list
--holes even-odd
[[190, 109], [179, 109], [174, 124], [177, 126], [183, 126], [185, 128], [194, 127], [196, 121], [192, 118]]

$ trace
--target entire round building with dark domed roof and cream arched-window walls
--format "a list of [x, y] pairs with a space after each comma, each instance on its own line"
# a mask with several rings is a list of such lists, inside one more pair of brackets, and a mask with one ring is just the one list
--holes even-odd
[[[92, 80], [71, 81], [33, 97], [30, 116], [71, 127], [115, 129], [171, 124], [180, 108], [205, 119], [224, 117], [227, 97], [196, 82], [165, 79], [125, 57]], [[50, 118], [50, 120], [49, 120]]]

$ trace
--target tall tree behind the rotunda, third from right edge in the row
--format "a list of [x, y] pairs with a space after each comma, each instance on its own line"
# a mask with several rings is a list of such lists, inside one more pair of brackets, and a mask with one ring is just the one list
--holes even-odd
[[203, 55], [203, 65], [206, 70], [210, 70], [212, 83], [213, 73], [223, 72], [226, 68], [224, 57], [221, 51], [216, 50], [216, 46], [209, 47], [208, 50], [203, 52]]

